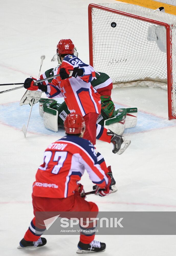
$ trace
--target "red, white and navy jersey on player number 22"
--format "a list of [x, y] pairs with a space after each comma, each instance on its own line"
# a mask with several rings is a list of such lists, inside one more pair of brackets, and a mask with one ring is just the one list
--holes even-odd
[[74, 55], [67, 55], [62, 61], [60, 68], [70, 71], [75, 67], [83, 69], [83, 76], [69, 77], [61, 80], [58, 76], [47, 85], [47, 97], [64, 97], [70, 113], [81, 114], [82, 116], [93, 112], [101, 113], [100, 94], [92, 87], [91, 81], [95, 77], [95, 71], [90, 65], [86, 65]]

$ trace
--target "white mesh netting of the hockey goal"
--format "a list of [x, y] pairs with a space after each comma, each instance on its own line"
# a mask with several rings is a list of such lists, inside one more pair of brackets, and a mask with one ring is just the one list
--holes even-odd
[[[99, 5], [170, 25], [173, 71], [172, 109], [175, 115], [176, 16], [131, 4]], [[116, 26], [112, 27], [112, 23]], [[92, 36], [93, 66], [96, 71], [107, 73], [113, 83], [150, 80], [153, 84], [161, 84], [161, 87], [167, 89], [165, 27], [92, 8]]]

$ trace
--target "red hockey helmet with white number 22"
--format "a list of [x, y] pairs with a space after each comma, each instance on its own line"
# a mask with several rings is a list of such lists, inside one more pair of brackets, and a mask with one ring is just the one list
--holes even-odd
[[71, 39], [61, 39], [57, 45], [57, 55], [73, 54], [74, 44]]

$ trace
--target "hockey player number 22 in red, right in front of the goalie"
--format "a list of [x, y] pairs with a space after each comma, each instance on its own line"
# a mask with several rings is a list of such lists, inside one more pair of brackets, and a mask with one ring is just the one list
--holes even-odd
[[[31, 78], [27, 78], [24, 87], [28, 90], [37, 90], [39, 88], [45, 91], [48, 98], [64, 97], [70, 113], [81, 114], [84, 118], [86, 130], [83, 138], [90, 140], [95, 145], [97, 132], [96, 121], [98, 115], [101, 113], [100, 94], [97, 93], [90, 83], [95, 77], [95, 70], [92, 66], [85, 64], [74, 56], [73, 53], [73, 42], [70, 39], [60, 40], [57, 45], [57, 54], [62, 62], [57, 72], [60, 76], [54, 78], [47, 85], [40, 84], [38, 86], [34, 86], [34, 81]], [[102, 137], [107, 137], [108, 142], [112, 142], [114, 145], [114, 153], [117, 153], [125, 137], [117, 135], [103, 127], [102, 130], [99, 130], [99, 135], [101, 134]], [[100, 153], [97, 153], [97, 156], [103, 159]], [[101, 167], [106, 173], [111, 175], [113, 192], [117, 191], [111, 167], [107, 168], [104, 160], [101, 162]]]

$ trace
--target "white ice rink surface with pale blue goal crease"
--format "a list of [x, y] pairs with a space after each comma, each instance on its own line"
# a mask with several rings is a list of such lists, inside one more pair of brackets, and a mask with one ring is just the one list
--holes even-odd
[[[115, 2], [108, 0], [92, 1]], [[31, 0], [1, 3], [1, 83], [18, 83], [37, 76], [40, 56], [46, 55], [42, 71], [55, 67], [50, 60], [61, 38], [71, 38], [79, 57], [89, 63], [88, 0]], [[101, 71], [101, 70], [98, 70]], [[1, 91], [13, 86], [1, 86]], [[1, 94], [1, 179], [0, 179], [0, 255], [76, 255], [78, 236], [47, 236], [42, 248], [16, 247], [31, 219], [32, 183], [42, 163], [45, 148], [64, 133], [47, 131], [34, 106], [27, 137], [21, 132], [27, 124], [30, 106], [19, 106], [24, 89]], [[114, 155], [112, 145], [97, 141], [97, 149], [112, 166], [118, 192], [108, 197], [90, 195], [100, 211], [175, 211], [176, 210], [176, 120], [168, 121], [167, 92], [161, 89], [114, 89], [118, 106], [138, 108], [138, 123], [125, 131], [131, 140], [127, 151]], [[62, 102], [60, 100], [59, 102]], [[85, 191], [92, 183], [85, 174]], [[145, 221], [145, 220], [144, 220]], [[106, 242], [101, 255], [165, 256], [175, 255], [175, 236], [97, 236]]]

